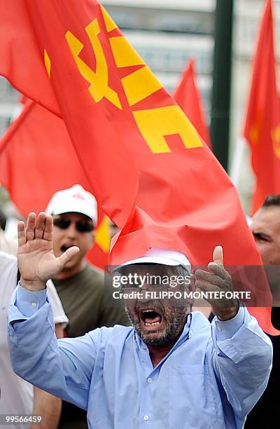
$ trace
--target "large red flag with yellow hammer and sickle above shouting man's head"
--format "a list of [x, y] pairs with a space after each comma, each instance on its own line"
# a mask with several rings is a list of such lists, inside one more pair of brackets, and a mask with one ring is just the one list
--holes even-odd
[[[125, 224], [112, 263], [158, 246], [187, 254], [193, 264], [207, 264], [219, 243], [226, 264], [261, 264], [228, 175], [105, 9], [94, 0], [2, 5], [0, 64], [8, 61], [13, 67], [1, 73], [22, 93], [57, 111], [50, 94], [45, 97], [43, 77], [38, 86], [34, 79], [47, 74], [94, 194], [118, 226]], [[20, 20], [15, 13], [22, 13]], [[22, 41], [33, 53], [25, 56]], [[254, 284], [258, 305], [271, 298], [263, 281], [261, 271]], [[266, 320], [262, 326], [269, 332]]]

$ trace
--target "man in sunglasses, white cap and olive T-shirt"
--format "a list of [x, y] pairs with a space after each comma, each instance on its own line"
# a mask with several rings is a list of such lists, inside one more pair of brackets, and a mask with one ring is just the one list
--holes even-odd
[[[53, 219], [55, 256], [59, 257], [71, 246], [80, 249], [62, 271], [52, 278], [69, 318], [66, 336], [81, 336], [102, 326], [129, 325], [123, 301], [113, 299], [112, 291], [104, 289], [104, 271], [85, 259], [92, 247], [94, 226], [97, 224], [94, 196], [82, 186], [74, 185], [55, 193], [46, 212]], [[107, 289], [109, 283], [106, 281]], [[59, 428], [87, 428], [86, 412], [69, 402], [63, 402]]]

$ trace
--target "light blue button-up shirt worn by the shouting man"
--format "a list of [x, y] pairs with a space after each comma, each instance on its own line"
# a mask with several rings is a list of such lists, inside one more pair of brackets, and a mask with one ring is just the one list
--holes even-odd
[[272, 345], [255, 318], [210, 325], [194, 312], [153, 368], [132, 327], [55, 338], [45, 290], [18, 287], [9, 309], [10, 359], [35, 386], [87, 409], [90, 429], [233, 429], [265, 390]]

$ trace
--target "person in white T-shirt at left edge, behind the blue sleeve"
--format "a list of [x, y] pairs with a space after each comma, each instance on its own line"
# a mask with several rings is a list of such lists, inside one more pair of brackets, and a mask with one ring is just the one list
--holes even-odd
[[[34, 388], [15, 375], [10, 365], [6, 335], [8, 305], [17, 286], [18, 260], [13, 255], [0, 251], [0, 414], [38, 414], [45, 416], [41, 428], [55, 429], [59, 422], [61, 400]], [[57, 338], [62, 338], [68, 319], [52, 282], [48, 281], [48, 299], [52, 306]], [[37, 302], [32, 303], [33, 306]], [[2, 425], [3, 428], [27, 429], [30, 423]], [[31, 428], [37, 427], [32, 425]]]

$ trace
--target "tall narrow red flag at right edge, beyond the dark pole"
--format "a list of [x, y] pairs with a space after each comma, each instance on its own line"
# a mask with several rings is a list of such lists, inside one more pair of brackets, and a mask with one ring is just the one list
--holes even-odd
[[252, 213], [270, 193], [280, 193], [280, 109], [276, 86], [272, 1], [267, 0], [253, 62], [244, 136], [256, 184]]

